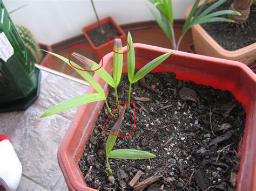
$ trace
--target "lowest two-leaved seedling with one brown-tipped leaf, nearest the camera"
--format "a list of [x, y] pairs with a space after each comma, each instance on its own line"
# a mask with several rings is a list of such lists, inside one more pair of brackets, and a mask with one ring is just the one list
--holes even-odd
[[111, 129], [109, 137], [107, 138], [107, 142], [106, 142], [106, 148], [105, 148], [105, 152], [106, 152], [106, 162], [107, 162], [107, 168], [109, 169], [109, 173], [110, 175], [113, 174], [110, 165], [109, 165], [109, 158], [112, 159], [150, 159], [150, 158], [154, 158], [156, 157], [156, 155], [149, 153], [147, 151], [139, 151], [139, 150], [133, 150], [133, 149], [116, 149], [116, 150], [112, 150], [114, 143], [116, 143], [117, 140], [117, 136], [114, 135], [118, 135], [119, 130], [121, 128], [121, 123], [123, 121], [123, 117], [124, 117], [124, 113], [125, 113], [125, 108], [126, 105], [124, 107], [122, 107], [122, 109], [120, 109], [120, 115], [116, 121], [116, 123], [114, 124], [113, 128]]

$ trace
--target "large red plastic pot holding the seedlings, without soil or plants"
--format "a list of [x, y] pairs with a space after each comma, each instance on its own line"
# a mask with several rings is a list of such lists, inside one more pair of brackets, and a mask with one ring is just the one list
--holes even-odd
[[[170, 52], [170, 49], [144, 44], [134, 44], [134, 48], [137, 69], [142, 68], [157, 56]], [[111, 73], [113, 53], [105, 55], [104, 60], [103, 67]], [[126, 61], [126, 58], [124, 60]], [[123, 72], [126, 72], [125, 65], [126, 63], [124, 63]], [[237, 61], [179, 51], [173, 51], [173, 54], [152, 72], [174, 72], [180, 80], [191, 80], [198, 84], [229, 90], [237, 100], [242, 102], [247, 113], [238, 190], [256, 190], [256, 75], [247, 66]], [[107, 84], [97, 75], [95, 79], [107, 94], [109, 91]], [[91, 86], [87, 90], [87, 93], [95, 92]], [[104, 101], [101, 101], [79, 107], [58, 149], [59, 166], [70, 190], [93, 190], [86, 186], [78, 161], [103, 104]]]

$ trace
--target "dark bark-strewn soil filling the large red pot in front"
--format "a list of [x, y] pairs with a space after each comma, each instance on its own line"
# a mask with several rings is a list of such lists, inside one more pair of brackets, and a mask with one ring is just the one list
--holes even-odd
[[[127, 76], [120, 83], [119, 102], [127, 101]], [[118, 137], [113, 149], [131, 148], [156, 155], [145, 160], [110, 159], [115, 181], [108, 180], [102, 127], [109, 115], [100, 112], [79, 167], [89, 187], [101, 190], [131, 190], [129, 182], [138, 171], [139, 181], [158, 176], [146, 189], [233, 190], [239, 171], [240, 150], [246, 112], [229, 91], [190, 81], [179, 81], [174, 73], [156, 73], [133, 84], [131, 101], [136, 103], [136, 128], [131, 137]], [[109, 94], [111, 108], [116, 104]], [[107, 122], [108, 130], [114, 125]], [[133, 127], [133, 105], [125, 112], [119, 135]], [[166, 143], [169, 140], [169, 143]], [[190, 181], [190, 183], [188, 183]]]

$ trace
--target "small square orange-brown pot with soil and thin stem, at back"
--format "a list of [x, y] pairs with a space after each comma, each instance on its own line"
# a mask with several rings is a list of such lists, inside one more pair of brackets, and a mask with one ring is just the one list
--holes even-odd
[[120, 28], [120, 26], [114, 21], [112, 17], [106, 17], [102, 20], [99, 20], [97, 11], [93, 0], [91, 0], [93, 11], [95, 12], [97, 22], [92, 23], [91, 25], [83, 27], [82, 31], [85, 38], [89, 41], [91, 47], [98, 51], [100, 54], [105, 55], [106, 53], [111, 52], [111, 49], [106, 47], [108, 44], [113, 46], [114, 39], [108, 38], [110, 36], [125, 37], [125, 32]]

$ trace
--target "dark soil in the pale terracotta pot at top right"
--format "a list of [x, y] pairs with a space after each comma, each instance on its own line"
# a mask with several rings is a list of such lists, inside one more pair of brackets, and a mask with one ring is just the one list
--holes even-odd
[[[214, 11], [228, 10], [232, 2], [233, 0], [228, 0]], [[252, 4], [250, 15], [244, 24], [214, 22], [201, 24], [201, 26], [221, 47], [229, 51], [251, 45], [256, 42], [256, 5]]]

